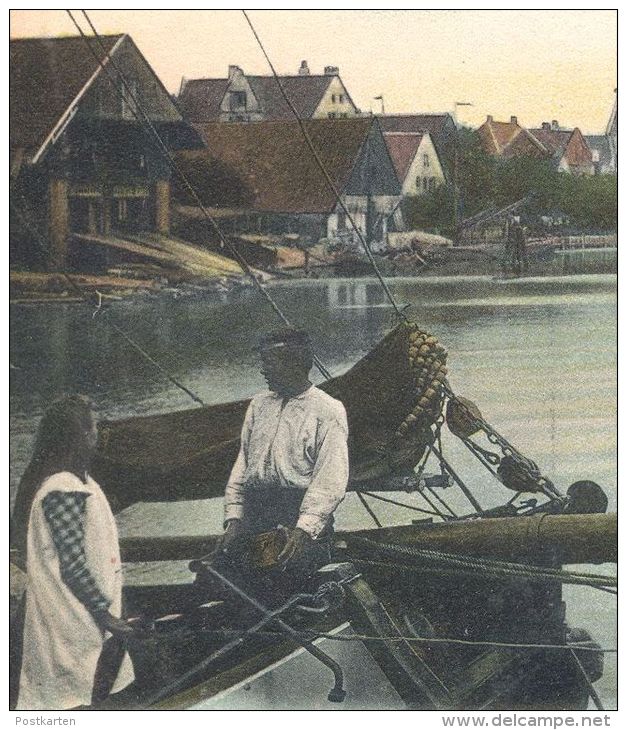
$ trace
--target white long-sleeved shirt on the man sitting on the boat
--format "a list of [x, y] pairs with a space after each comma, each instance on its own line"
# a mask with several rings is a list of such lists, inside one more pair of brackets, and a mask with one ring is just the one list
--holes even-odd
[[259, 393], [244, 418], [225, 520], [242, 518], [249, 489], [291, 487], [305, 492], [296, 526], [316, 538], [346, 494], [347, 439], [344, 406], [315, 386], [289, 399]]

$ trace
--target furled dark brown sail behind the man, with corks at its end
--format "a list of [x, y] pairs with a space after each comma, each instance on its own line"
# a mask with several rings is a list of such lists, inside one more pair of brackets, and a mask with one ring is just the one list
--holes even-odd
[[[352, 485], [416, 465], [438, 411], [445, 362], [434, 337], [404, 322], [348, 372], [321, 386], [346, 407]], [[247, 405], [103, 422], [94, 474], [114, 509], [222, 495]]]

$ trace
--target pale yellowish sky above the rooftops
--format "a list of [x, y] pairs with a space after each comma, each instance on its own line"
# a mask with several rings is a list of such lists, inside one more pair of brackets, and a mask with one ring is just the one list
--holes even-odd
[[[74, 11], [79, 19], [80, 11]], [[363, 111], [491, 114], [524, 126], [557, 119], [605, 130], [617, 85], [615, 10], [251, 10], [279, 73], [338, 66]], [[229, 64], [269, 74], [239, 10], [90, 10], [97, 31], [128, 33], [166, 87], [224, 78]], [[88, 27], [82, 21], [85, 30]], [[76, 35], [64, 10], [14, 10], [11, 37]], [[472, 106], [457, 106], [456, 102]]]

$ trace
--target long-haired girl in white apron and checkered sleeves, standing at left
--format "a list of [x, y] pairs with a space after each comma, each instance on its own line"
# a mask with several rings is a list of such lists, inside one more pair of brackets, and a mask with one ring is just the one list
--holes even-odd
[[26, 600], [18, 710], [88, 706], [134, 679], [122, 643], [133, 628], [120, 618], [117, 528], [89, 476], [96, 441], [89, 400], [61, 398], [41, 420], [20, 482], [13, 546], [25, 557]]

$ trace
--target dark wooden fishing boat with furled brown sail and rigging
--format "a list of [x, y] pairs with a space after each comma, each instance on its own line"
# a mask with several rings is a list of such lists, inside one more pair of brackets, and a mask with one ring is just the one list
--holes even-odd
[[[397, 502], [393, 493], [403, 490], [403, 504], [413, 503], [421, 519], [337, 533], [334, 562], [309, 592], [272, 611], [253, 606], [252, 627], [233, 618], [224, 591], [199, 593], [191, 570], [183, 584], [127, 586], [130, 615], [150, 624], [144, 640], [130, 644], [138, 677], [132, 706], [211, 707], [303, 650], [327, 666], [328, 698], [340, 702], [342, 667], [320, 641], [359, 642], [414, 709], [585, 709], [590, 697], [598, 700], [593, 683], [603, 655], [585, 631], [566, 624], [562, 586], [612, 590], [613, 578], [564, 566], [615, 561], [616, 516], [604, 514], [607, 500], [592, 483], [560, 493], [476, 406], [455, 396], [446, 356], [435, 337], [403, 321], [321, 386], [347, 410], [349, 489], [366, 506], [366, 497]], [[102, 423], [94, 474], [115, 510], [220, 496], [246, 407], [238, 401]], [[442, 428], [498, 479], [507, 493], [501, 506], [481, 507], [442, 453]], [[430, 460], [438, 473], [425, 471]], [[455, 488], [468, 503], [461, 516], [445, 496]], [[215, 540], [126, 538], [121, 547], [128, 563], [195, 561], [198, 572]]]

